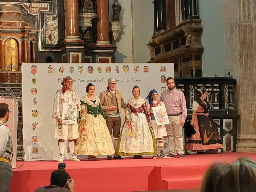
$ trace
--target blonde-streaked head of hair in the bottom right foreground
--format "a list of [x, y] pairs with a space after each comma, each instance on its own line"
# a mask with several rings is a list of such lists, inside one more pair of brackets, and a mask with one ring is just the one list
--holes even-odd
[[256, 191], [256, 163], [241, 157], [230, 165], [213, 164], [203, 179], [201, 192], [254, 192]]

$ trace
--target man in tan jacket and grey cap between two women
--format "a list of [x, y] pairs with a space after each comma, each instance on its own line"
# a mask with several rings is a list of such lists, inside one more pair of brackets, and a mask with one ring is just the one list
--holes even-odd
[[[121, 128], [121, 108], [127, 109], [127, 104], [124, 102], [121, 92], [116, 90], [116, 80], [114, 78], [108, 79], [107, 90], [101, 92], [99, 98], [111, 136], [113, 129], [114, 147], [116, 150]], [[107, 159], [112, 159], [111, 155], [108, 155]], [[122, 159], [122, 157], [115, 154], [114, 159]]]

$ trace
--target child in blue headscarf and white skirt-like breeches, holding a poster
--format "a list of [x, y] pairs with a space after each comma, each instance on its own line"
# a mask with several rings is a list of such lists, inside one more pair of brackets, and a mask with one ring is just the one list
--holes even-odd
[[[158, 140], [158, 147], [160, 150], [160, 157], [161, 158], [167, 158], [166, 155], [164, 155], [164, 143], [163, 143], [163, 137], [167, 136], [166, 128], [165, 125], [157, 125], [155, 121], [155, 116], [153, 114], [152, 107], [157, 107], [157, 106], [164, 106], [164, 103], [161, 102], [160, 100], [157, 99], [158, 93], [155, 89], [151, 90], [148, 93], [148, 96], [146, 99], [148, 99], [148, 103], [150, 104], [149, 112], [151, 116], [151, 125], [155, 134], [155, 140], [157, 142]], [[158, 155], [154, 155], [153, 159], [156, 159]]]

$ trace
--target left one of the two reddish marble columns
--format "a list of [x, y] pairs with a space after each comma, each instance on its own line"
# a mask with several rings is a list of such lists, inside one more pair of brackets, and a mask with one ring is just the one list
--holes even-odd
[[83, 42], [79, 37], [78, 0], [65, 1], [66, 36], [64, 42]]

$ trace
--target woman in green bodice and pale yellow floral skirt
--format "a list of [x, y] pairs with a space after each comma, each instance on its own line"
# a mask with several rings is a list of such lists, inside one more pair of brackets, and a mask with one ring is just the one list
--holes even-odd
[[95, 86], [89, 83], [86, 93], [88, 95], [81, 98], [79, 138], [75, 151], [77, 155], [88, 155], [89, 161], [95, 161], [95, 156], [114, 154], [115, 150], [100, 99], [94, 96]]

